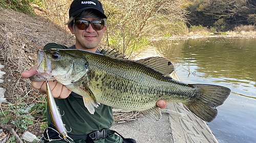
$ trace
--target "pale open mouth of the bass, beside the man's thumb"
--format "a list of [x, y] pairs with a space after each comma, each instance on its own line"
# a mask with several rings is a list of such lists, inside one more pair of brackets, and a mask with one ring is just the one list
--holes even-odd
[[39, 74], [44, 74], [50, 76], [52, 68], [51, 61], [47, 58], [47, 55], [44, 50], [37, 51], [37, 69], [36, 71]]

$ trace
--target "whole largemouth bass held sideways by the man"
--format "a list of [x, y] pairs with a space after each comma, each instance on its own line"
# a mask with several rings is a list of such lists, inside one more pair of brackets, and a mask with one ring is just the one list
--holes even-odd
[[[124, 110], [136, 110], [155, 121], [161, 119], [158, 100], [181, 102], [206, 122], [217, 116], [230, 89], [211, 84], [187, 84], [168, 75], [174, 66], [165, 58], [138, 61], [124, 59], [120, 53], [98, 54], [78, 49], [38, 51], [37, 72], [57, 80], [83, 97], [90, 113], [98, 103]], [[31, 77], [37, 81], [36, 76]]]

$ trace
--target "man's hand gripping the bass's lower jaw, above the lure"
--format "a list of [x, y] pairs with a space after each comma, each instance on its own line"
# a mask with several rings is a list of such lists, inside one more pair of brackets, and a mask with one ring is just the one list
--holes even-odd
[[[29, 71], [22, 72], [22, 77], [30, 78], [32, 75], [37, 73], [36, 68], [37, 66], [34, 66]], [[41, 81], [41, 82], [31, 81], [31, 85], [35, 89], [38, 89], [42, 94], [46, 94], [46, 81]], [[65, 85], [57, 81], [49, 81], [49, 85], [54, 98], [64, 99], [69, 97], [71, 93], [71, 91]]]

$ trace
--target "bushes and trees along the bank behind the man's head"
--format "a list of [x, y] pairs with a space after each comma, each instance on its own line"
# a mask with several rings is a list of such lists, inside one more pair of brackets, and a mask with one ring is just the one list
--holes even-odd
[[[255, 35], [256, 2], [252, 0], [101, 1], [108, 16], [102, 47], [124, 54], [151, 44], [150, 39], [195, 35]], [[36, 14], [69, 31], [68, 0], [5, 0], [3, 8]]]

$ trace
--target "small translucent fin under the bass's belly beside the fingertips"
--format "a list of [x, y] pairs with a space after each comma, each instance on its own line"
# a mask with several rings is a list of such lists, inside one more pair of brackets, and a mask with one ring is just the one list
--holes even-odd
[[155, 121], [160, 121], [160, 119], [162, 118], [162, 114], [160, 112], [160, 109], [158, 106], [154, 106], [150, 109], [146, 109], [146, 110], [140, 110], [140, 112], [147, 118], [149, 119], [153, 119]]

